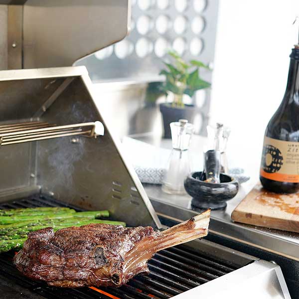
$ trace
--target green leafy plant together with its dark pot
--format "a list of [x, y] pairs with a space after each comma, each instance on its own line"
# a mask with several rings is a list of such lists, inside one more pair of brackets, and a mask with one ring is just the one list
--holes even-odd
[[198, 60], [186, 62], [175, 51], [168, 51], [168, 54], [173, 63], [164, 62], [167, 69], [162, 70], [160, 75], [164, 75], [166, 79], [162, 84], [162, 90], [167, 96], [172, 93], [173, 101], [160, 104], [164, 138], [171, 138], [170, 123], [177, 122], [179, 119], [186, 119], [193, 123], [196, 114], [198, 114], [198, 109], [194, 105], [183, 103], [183, 95], [192, 97], [195, 91], [211, 86], [199, 75], [200, 68], [210, 70], [206, 64]]

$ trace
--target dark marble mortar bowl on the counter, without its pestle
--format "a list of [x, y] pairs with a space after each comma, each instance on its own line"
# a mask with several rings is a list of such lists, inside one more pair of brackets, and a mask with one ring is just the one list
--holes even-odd
[[200, 175], [201, 171], [192, 172], [184, 180], [187, 193], [193, 197], [192, 207], [210, 208], [212, 210], [224, 209], [226, 201], [232, 199], [238, 193], [238, 181], [227, 174], [220, 174], [220, 183], [208, 183], [199, 180]]

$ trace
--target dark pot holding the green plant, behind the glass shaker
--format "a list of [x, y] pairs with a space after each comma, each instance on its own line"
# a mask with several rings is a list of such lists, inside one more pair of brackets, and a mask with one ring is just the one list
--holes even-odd
[[185, 105], [184, 108], [172, 107], [171, 103], [160, 104], [160, 111], [163, 118], [164, 138], [171, 138], [170, 123], [179, 120], [187, 120], [193, 124], [195, 116], [198, 114], [198, 108], [194, 105]]

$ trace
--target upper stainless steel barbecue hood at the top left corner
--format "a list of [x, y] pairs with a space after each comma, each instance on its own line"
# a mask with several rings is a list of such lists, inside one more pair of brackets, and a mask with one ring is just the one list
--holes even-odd
[[[71, 66], [130, 31], [130, 0], [0, 0], [0, 4], [8, 4], [0, 5], [1, 59], [7, 55], [7, 64], [0, 63], [0, 69]], [[3, 45], [7, 49], [2, 54]]]

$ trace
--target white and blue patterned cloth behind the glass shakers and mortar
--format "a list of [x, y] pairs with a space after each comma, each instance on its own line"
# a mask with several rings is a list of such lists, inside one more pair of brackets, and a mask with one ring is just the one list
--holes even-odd
[[[142, 183], [162, 184], [171, 152], [170, 149], [158, 148], [129, 137], [124, 137], [123, 149]], [[240, 184], [250, 178], [244, 174], [243, 168], [231, 168], [228, 172]]]

